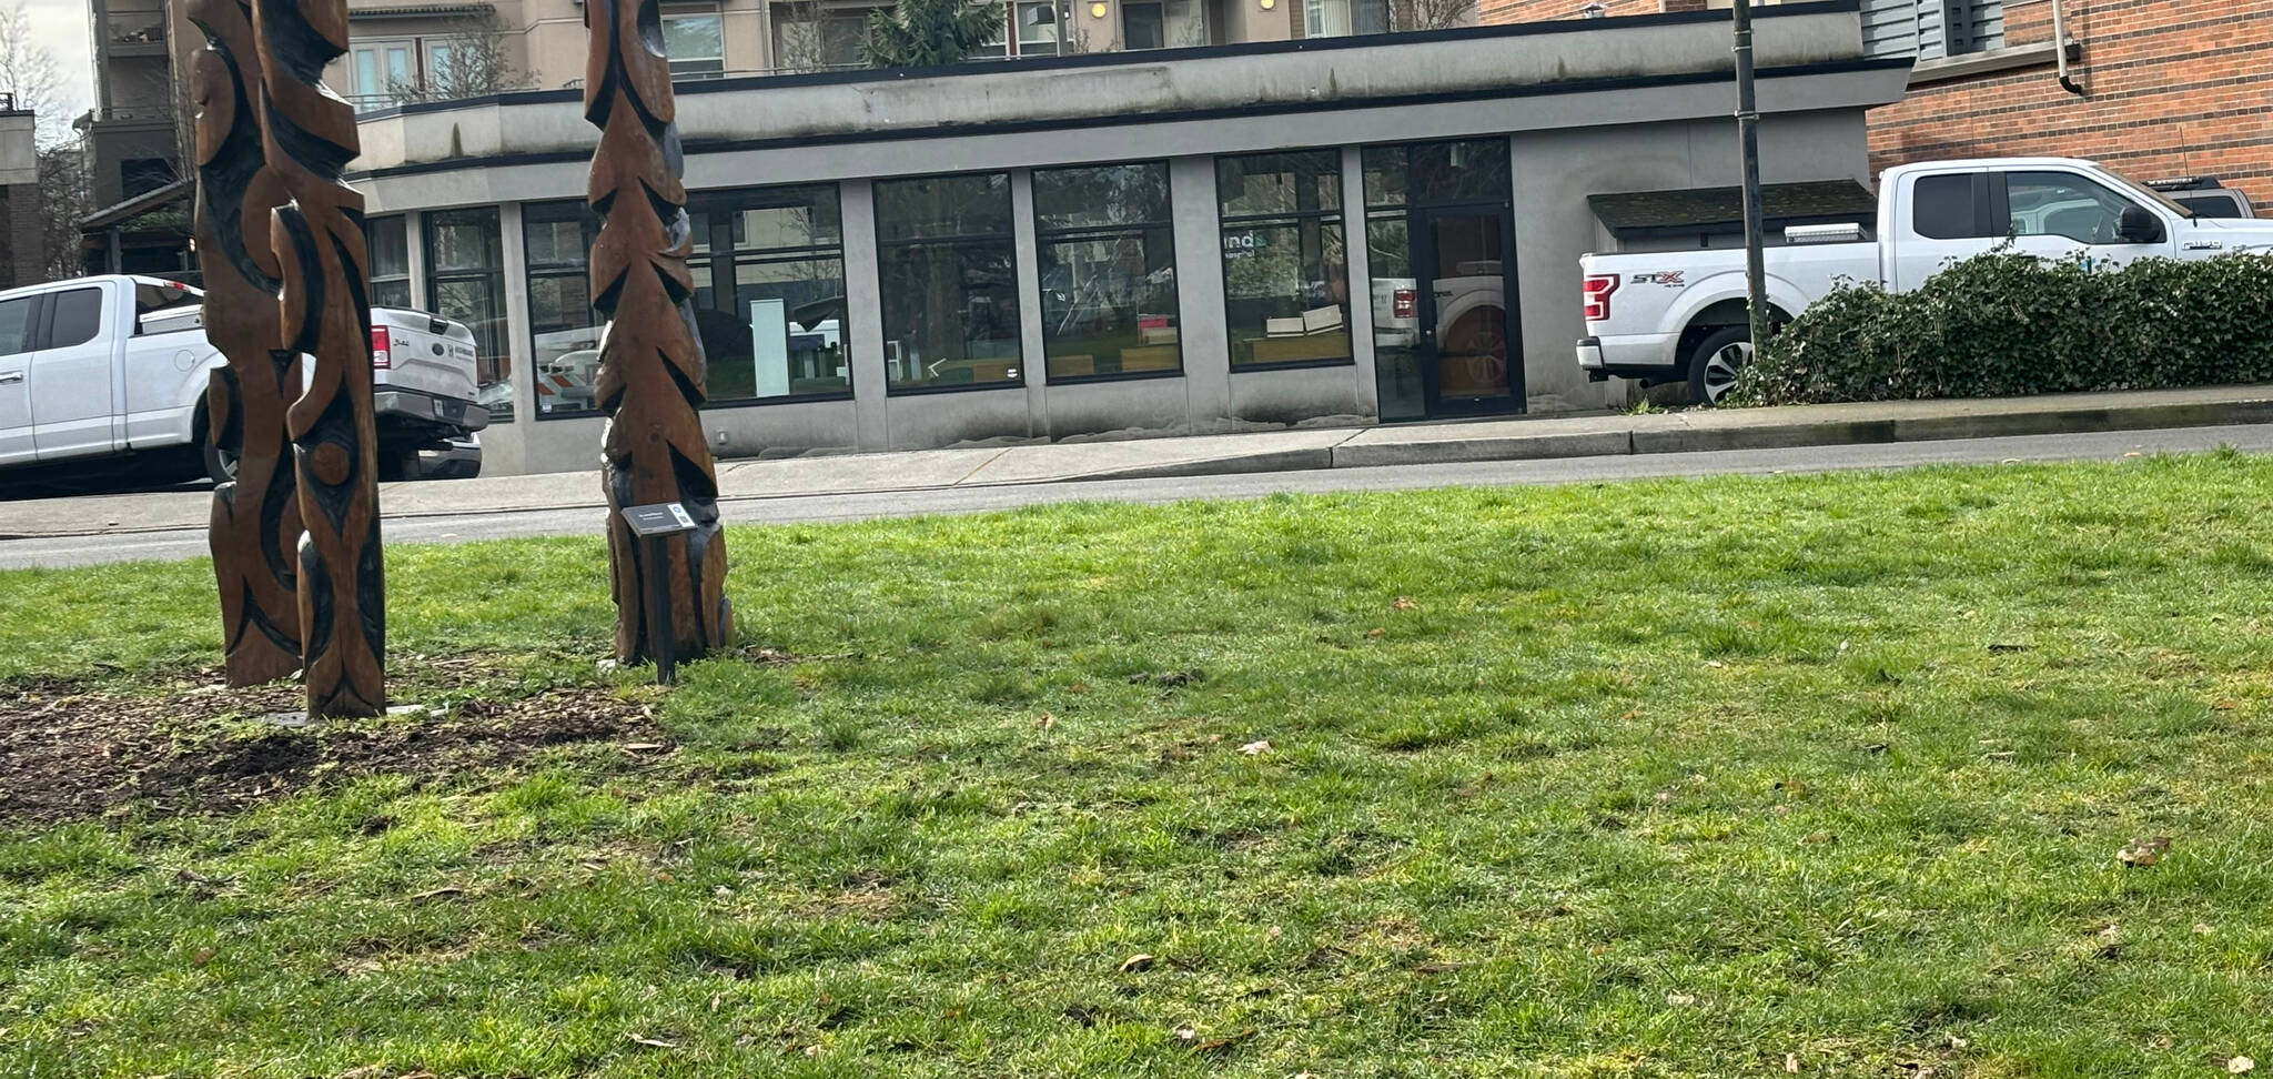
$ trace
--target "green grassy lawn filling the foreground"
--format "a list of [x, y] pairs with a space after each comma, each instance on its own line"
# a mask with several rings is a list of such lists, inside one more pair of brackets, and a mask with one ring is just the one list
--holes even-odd
[[2266, 507], [2207, 454], [739, 529], [748, 652], [668, 693], [593, 663], [598, 541], [405, 545], [434, 711], [320, 731], [211, 691], [202, 563], [0, 575], [0, 1074], [2273, 1065]]

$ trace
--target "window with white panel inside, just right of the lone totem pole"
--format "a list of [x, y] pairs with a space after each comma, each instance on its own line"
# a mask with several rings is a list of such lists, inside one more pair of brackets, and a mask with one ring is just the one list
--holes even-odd
[[689, 198], [711, 404], [852, 393], [836, 184]]

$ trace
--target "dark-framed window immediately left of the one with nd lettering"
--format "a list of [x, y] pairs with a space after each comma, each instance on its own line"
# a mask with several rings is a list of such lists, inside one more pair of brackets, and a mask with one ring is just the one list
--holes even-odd
[[1184, 370], [1168, 164], [1034, 170], [1050, 379]]

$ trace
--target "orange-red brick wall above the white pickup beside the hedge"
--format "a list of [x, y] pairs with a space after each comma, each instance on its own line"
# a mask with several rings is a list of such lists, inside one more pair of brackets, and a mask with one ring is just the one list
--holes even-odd
[[[2053, 0], [2007, 0], [2007, 45], [2053, 39]], [[2273, 207], [2273, 0], [2062, 0], [2053, 66], [1916, 86], [1871, 111], [1877, 168], [1934, 157], [2089, 157], [2137, 179], [2216, 175]]]

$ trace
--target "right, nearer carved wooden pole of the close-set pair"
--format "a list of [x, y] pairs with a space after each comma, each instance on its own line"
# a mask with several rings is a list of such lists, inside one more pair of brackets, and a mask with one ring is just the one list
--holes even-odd
[[309, 716], [386, 711], [386, 588], [370, 420], [370, 277], [364, 195], [339, 175], [355, 109], [323, 91], [348, 52], [345, 0], [255, 0], [261, 148], [286, 202], [270, 214], [280, 345], [314, 363], [284, 413], [300, 486], [300, 656]]

